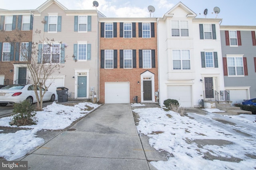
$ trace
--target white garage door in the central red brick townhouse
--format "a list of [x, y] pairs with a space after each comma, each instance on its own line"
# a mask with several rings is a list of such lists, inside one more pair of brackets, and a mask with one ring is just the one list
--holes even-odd
[[129, 82], [106, 82], [105, 103], [130, 103]]

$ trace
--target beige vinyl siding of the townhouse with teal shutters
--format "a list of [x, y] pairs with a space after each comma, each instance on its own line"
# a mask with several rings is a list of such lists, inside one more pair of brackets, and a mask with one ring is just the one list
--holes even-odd
[[[44, 32], [44, 24], [41, 21], [44, 19], [44, 16], [49, 16], [49, 14], [58, 13], [58, 16], [62, 16], [62, 27], [61, 32], [57, 33], [48, 33]], [[74, 16], [77, 15], [86, 15], [92, 16], [92, 31], [88, 31], [86, 33], [81, 33], [74, 31]], [[60, 74], [55, 72], [54, 74], [65, 76], [65, 87], [69, 89], [68, 92], [75, 92], [75, 80], [72, 79], [75, 76], [76, 70], [89, 70], [89, 87], [93, 86], [94, 89], [97, 88], [97, 48], [98, 44], [97, 36], [98, 36], [98, 27], [97, 27], [97, 13], [90, 12], [88, 14], [66, 14], [62, 8], [60, 8], [55, 3], [51, 4], [48, 8], [42, 11], [41, 16], [34, 16], [34, 31], [36, 29], [41, 30], [40, 36], [48, 39], [54, 39], [55, 42], [62, 41], [68, 47], [65, 49], [65, 60], [66, 62], [63, 64], [64, 67], [60, 69]], [[34, 33], [33, 41], [39, 42], [42, 40], [40, 36]], [[88, 61], [77, 61], [75, 62], [72, 55], [74, 54], [74, 44], [77, 44], [78, 41], [87, 41], [87, 44], [91, 44], [91, 60]], [[87, 88], [89, 88], [87, 87]], [[74, 93], [73, 93], [74, 94]], [[72, 98], [74, 95], [72, 94]]]

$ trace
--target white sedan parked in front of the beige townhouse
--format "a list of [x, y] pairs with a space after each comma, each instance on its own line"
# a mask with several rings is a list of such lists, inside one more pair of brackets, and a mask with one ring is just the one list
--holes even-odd
[[[37, 88], [37, 92], [39, 96], [39, 88]], [[29, 100], [31, 104], [37, 102], [34, 86], [32, 84], [13, 84], [0, 89], [0, 106], [20, 103], [26, 99]], [[53, 102], [54, 100], [55, 94], [46, 90], [43, 101]]]

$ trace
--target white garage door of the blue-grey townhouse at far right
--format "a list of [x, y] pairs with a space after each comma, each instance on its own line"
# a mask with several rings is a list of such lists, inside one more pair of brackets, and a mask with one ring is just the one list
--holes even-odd
[[[227, 89], [228, 90], [228, 89]], [[232, 89], [229, 90], [230, 101], [232, 104], [244, 102], [249, 99], [247, 96], [247, 89]]]

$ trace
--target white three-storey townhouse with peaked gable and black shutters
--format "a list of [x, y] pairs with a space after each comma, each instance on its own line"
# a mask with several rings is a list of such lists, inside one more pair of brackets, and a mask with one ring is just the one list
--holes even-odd
[[224, 95], [220, 23], [196, 18], [179, 2], [158, 18], [159, 104], [176, 99], [182, 107]]

